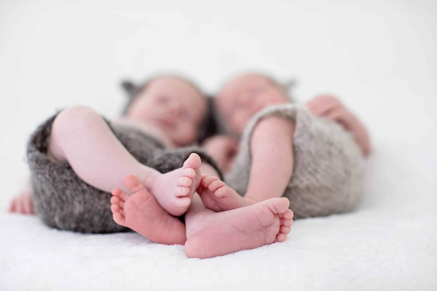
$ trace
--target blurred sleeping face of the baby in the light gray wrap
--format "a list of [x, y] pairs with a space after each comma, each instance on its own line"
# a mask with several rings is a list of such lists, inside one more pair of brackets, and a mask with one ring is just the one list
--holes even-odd
[[229, 81], [217, 96], [217, 109], [230, 130], [243, 133], [247, 122], [271, 104], [287, 103], [288, 98], [271, 80], [262, 75], [242, 75]]

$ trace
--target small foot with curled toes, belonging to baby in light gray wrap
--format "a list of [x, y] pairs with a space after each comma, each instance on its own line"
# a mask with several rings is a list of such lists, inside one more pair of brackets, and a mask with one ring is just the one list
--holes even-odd
[[241, 197], [234, 189], [214, 176], [203, 175], [197, 189], [203, 204], [215, 212], [232, 210], [252, 205]]

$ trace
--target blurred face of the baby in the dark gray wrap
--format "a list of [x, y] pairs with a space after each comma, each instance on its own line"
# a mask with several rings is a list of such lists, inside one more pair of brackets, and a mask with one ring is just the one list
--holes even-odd
[[205, 96], [177, 77], [151, 81], [135, 98], [127, 114], [163, 130], [177, 146], [193, 143], [207, 112]]

